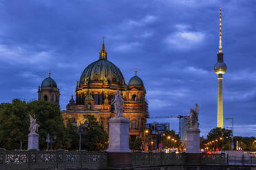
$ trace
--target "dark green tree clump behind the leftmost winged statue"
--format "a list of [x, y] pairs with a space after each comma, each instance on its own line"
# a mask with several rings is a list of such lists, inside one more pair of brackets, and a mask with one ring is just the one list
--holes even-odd
[[46, 134], [56, 134], [54, 148], [63, 148], [65, 126], [59, 106], [47, 101], [31, 101], [26, 103], [19, 99], [12, 100], [12, 104], [0, 105], [0, 147], [6, 149], [23, 149], [28, 147], [29, 114], [36, 116], [39, 127], [39, 149], [46, 149]]

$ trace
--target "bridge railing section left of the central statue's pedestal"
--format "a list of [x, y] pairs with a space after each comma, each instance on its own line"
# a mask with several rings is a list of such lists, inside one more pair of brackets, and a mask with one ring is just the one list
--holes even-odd
[[88, 151], [4, 151], [0, 169], [106, 169], [107, 152]]

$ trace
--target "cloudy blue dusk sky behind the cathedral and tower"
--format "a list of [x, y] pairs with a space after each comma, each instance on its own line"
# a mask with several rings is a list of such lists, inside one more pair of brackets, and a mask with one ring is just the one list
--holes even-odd
[[[37, 99], [47, 72], [61, 90], [61, 110], [85, 67], [98, 60], [105, 36], [108, 60], [126, 83], [138, 70], [149, 114], [189, 114], [200, 106], [201, 134], [216, 126], [220, 8], [224, 117], [235, 135], [256, 136], [256, 2], [201, 0], [0, 1], [0, 102]], [[153, 120], [150, 120], [153, 121]], [[177, 119], [170, 122], [178, 131]], [[231, 121], [224, 120], [224, 126]]]

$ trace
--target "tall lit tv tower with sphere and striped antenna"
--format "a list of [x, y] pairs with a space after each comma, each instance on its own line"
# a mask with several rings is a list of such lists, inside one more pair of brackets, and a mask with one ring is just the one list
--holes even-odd
[[224, 63], [222, 53], [222, 8], [220, 8], [220, 46], [217, 53], [217, 63], [214, 66], [214, 71], [218, 75], [217, 80], [219, 82], [217, 92], [217, 127], [223, 128], [222, 75], [226, 73], [226, 64]]

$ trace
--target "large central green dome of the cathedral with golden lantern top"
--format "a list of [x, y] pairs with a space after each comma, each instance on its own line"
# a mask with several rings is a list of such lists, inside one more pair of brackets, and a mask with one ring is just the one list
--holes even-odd
[[105, 51], [105, 45], [103, 43], [103, 49], [100, 51], [99, 60], [89, 64], [83, 71], [79, 88], [83, 87], [85, 82], [109, 82], [111, 84], [118, 84], [123, 86], [125, 79], [122, 76], [121, 71], [112, 62], [107, 60], [107, 52]]

